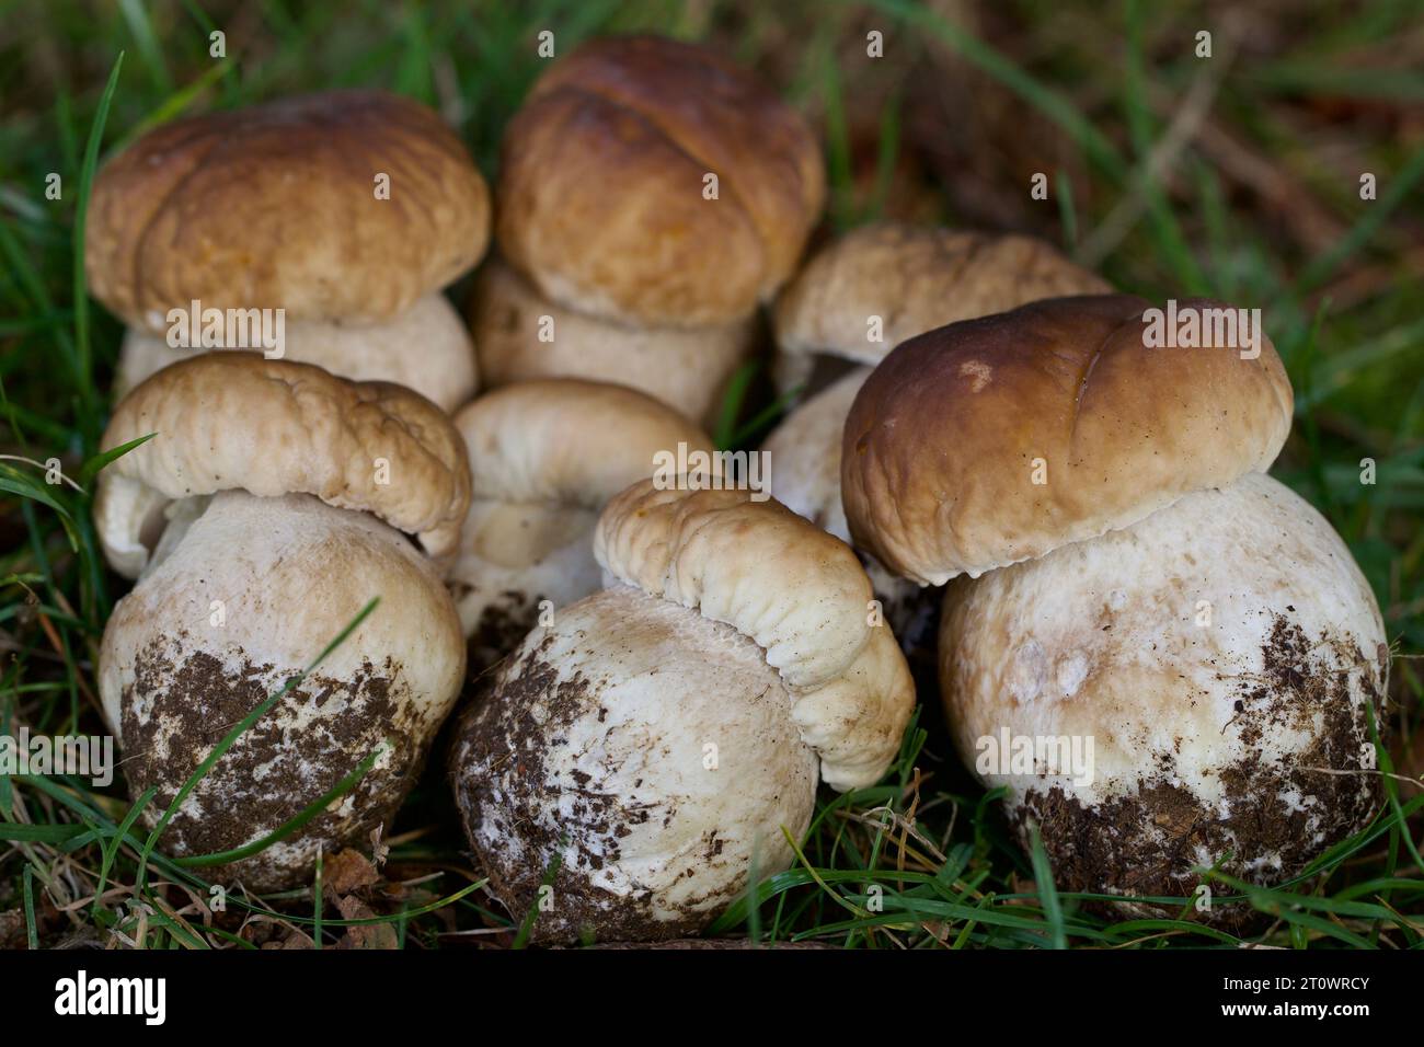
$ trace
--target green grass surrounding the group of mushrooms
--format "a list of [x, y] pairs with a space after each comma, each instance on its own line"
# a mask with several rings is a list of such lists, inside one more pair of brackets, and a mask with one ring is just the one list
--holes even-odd
[[[0, 4], [0, 726], [103, 731], [94, 665], [121, 588], [97, 551], [90, 491], [108, 460], [95, 452], [121, 328], [84, 288], [95, 162], [187, 111], [377, 85], [439, 107], [493, 174], [501, 128], [540, 70], [540, 30], [565, 54], [595, 33], [652, 28], [711, 37], [812, 115], [832, 179], [827, 228], [909, 215], [1028, 229], [1125, 291], [1262, 306], [1297, 403], [1276, 474], [1326, 513], [1374, 587], [1396, 654], [1380, 768], [1418, 776], [1424, 150], [1417, 131], [1407, 144], [1405, 107], [1424, 100], [1424, 38], [1410, 3], [1307, 19], [1297, 7], [1253, 6], [1274, 26], [1267, 44], [1230, 43], [1216, 19], [1212, 66], [1190, 51], [1203, 16], [1189, 4], [1020, 0], [977, 24], [910, 0]], [[208, 56], [215, 28], [228, 33], [221, 61]], [[864, 58], [870, 28], [886, 37], [877, 63]], [[1193, 87], [1210, 88], [1203, 134], [1153, 162]], [[971, 110], [1011, 115], [987, 127]], [[1034, 171], [1049, 175], [1048, 201], [1028, 195]], [[1374, 201], [1358, 199], [1361, 171], [1378, 178]], [[60, 201], [44, 197], [51, 172]], [[746, 446], [779, 410], [749, 368], [718, 439]], [[51, 457], [73, 486], [44, 483]], [[1373, 487], [1358, 480], [1366, 457]], [[151, 798], [132, 803], [118, 782], [0, 778], [0, 912], [23, 915], [31, 947], [115, 936], [252, 947], [253, 927], [330, 946], [377, 923], [406, 947], [523, 943], [524, 915], [504, 913], [463, 855], [434, 764], [387, 840], [377, 915], [362, 920], [295, 890], [232, 896], [209, 922], [195, 902], [208, 897], [208, 859], [174, 860], [161, 828], [140, 828]], [[1250, 940], [1420, 946], [1424, 796], [1384, 781], [1376, 822], [1294, 880], [1267, 890], [1203, 872], [1218, 905], [1237, 897], [1267, 917]], [[823, 791], [795, 845], [792, 869], [762, 879], [713, 933], [910, 949], [1239, 944], [1188, 912], [1114, 920], [1085, 907], [1092, 896], [1055, 889], [1042, 849], [1025, 853], [998, 796], [957, 765], [933, 708], [881, 783]]]

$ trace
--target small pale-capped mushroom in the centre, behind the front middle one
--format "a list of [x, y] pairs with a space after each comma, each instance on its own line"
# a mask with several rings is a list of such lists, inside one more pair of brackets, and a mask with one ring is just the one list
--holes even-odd
[[711, 437], [672, 407], [604, 382], [520, 382], [467, 405], [454, 423], [473, 497], [453, 585], [477, 670], [518, 645], [541, 607], [602, 588], [592, 537], [614, 494], [651, 477], [661, 454], [676, 460], [679, 444], [716, 463]]

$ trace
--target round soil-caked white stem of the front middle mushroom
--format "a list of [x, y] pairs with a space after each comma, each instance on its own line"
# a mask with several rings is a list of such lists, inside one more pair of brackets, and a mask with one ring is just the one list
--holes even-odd
[[456, 735], [478, 865], [510, 913], [538, 906], [538, 940], [696, 933], [806, 832], [817, 758], [790, 695], [753, 641], [635, 588], [554, 623]]

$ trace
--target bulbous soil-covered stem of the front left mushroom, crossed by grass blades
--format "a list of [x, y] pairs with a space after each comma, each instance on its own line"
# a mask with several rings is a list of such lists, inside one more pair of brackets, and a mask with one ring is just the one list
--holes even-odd
[[296, 833], [215, 869], [253, 890], [310, 883], [318, 852], [369, 846], [414, 785], [460, 692], [464, 642], [430, 561], [397, 530], [309, 494], [194, 499], [100, 648], [104, 715], [152, 828], [214, 746], [350, 625], [330, 654], [242, 734], [179, 805], [174, 855], [256, 842], [380, 749]]

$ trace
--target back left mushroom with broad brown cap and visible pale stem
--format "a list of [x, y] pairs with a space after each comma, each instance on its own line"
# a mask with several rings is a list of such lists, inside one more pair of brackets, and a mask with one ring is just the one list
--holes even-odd
[[407, 98], [335, 91], [164, 124], [103, 168], [85, 226], [90, 289], [130, 325], [117, 393], [251, 348], [453, 410], [476, 356], [440, 288], [488, 226], [460, 140]]

